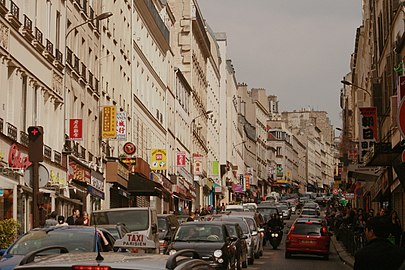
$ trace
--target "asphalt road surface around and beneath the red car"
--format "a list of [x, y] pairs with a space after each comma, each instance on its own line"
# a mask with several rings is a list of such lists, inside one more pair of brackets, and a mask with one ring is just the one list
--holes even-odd
[[[290, 220], [286, 220], [287, 226], [291, 226], [292, 222], [297, 216], [294, 215]], [[260, 259], [256, 259], [253, 265], [249, 265], [247, 269], [291, 269], [291, 270], [314, 270], [314, 269], [327, 269], [327, 270], [349, 270], [352, 269], [344, 264], [333, 244], [331, 243], [329, 260], [324, 260], [322, 257], [317, 256], [301, 256], [292, 255], [291, 259], [284, 258], [285, 252], [285, 237], [288, 232], [287, 226], [284, 229], [284, 236], [281, 245], [277, 250], [273, 250], [271, 246], [264, 248], [264, 254]]]

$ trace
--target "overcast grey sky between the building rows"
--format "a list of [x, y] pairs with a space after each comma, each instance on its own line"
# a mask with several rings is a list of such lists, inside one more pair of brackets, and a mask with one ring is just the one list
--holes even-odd
[[278, 96], [280, 110], [327, 111], [341, 127], [340, 81], [350, 69], [361, 0], [198, 0], [226, 32], [238, 82]]

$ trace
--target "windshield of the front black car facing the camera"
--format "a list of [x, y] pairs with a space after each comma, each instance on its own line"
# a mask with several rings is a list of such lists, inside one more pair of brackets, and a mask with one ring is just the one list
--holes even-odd
[[175, 241], [223, 242], [224, 235], [220, 225], [193, 224], [180, 226], [174, 236]]

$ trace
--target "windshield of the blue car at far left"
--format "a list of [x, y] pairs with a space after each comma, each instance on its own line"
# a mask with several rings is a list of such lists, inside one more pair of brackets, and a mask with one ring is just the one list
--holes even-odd
[[[47, 246], [64, 246], [69, 252], [95, 251], [94, 230], [30, 231], [18, 239], [8, 253], [11, 255], [25, 255]], [[46, 253], [59, 253], [59, 251], [50, 250]]]

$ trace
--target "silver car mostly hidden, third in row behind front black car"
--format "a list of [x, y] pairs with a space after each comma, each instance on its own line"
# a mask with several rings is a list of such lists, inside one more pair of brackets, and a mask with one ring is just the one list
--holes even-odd
[[[223, 222], [235, 222], [239, 224], [241, 228], [244, 239], [247, 246], [247, 262], [248, 264], [253, 264], [255, 260], [255, 243], [253, 241], [252, 231], [249, 229], [249, 225], [243, 217], [230, 216], [230, 215], [217, 215], [213, 219], [214, 221], [223, 221]], [[245, 263], [242, 261], [242, 267]]]

